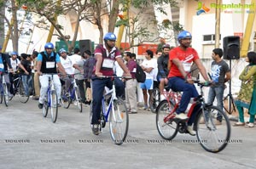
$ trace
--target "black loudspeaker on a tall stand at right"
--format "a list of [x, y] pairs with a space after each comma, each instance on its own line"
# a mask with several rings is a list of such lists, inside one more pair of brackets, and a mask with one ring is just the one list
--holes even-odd
[[240, 37], [230, 36], [223, 39], [224, 59], [240, 58]]

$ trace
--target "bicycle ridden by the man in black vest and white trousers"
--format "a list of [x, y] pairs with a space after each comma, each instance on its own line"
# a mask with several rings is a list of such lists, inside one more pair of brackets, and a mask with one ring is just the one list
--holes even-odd
[[53, 82], [53, 76], [55, 73], [46, 73], [43, 75], [48, 75], [49, 86], [47, 87], [47, 98], [44, 100], [43, 105], [43, 116], [48, 115], [48, 110], [50, 109], [51, 121], [55, 123], [58, 116], [58, 97], [55, 90], [55, 85]]

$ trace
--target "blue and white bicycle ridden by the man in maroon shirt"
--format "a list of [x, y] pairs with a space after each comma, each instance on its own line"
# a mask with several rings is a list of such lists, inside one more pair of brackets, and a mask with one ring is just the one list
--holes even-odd
[[[118, 99], [115, 93], [114, 78], [129, 78], [123, 76], [101, 76], [100, 78], [111, 78], [113, 87], [102, 96], [102, 111], [100, 131], [106, 126], [109, 115], [109, 132], [114, 144], [123, 144], [129, 128], [129, 115], [123, 99]], [[131, 77], [130, 77], [131, 78]], [[93, 103], [93, 101], [92, 101]], [[92, 109], [90, 104], [90, 121]]]

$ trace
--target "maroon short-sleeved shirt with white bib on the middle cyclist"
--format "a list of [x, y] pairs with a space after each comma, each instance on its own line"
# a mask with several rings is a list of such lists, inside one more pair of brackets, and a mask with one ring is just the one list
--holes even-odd
[[102, 44], [98, 45], [95, 49], [95, 55], [102, 55], [102, 67], [100, 72], [103, 76], [113, 76], [113, 62], [116, 58], [122, 57], [118, 48], [113, 47], [108, 53], [107, 48]]

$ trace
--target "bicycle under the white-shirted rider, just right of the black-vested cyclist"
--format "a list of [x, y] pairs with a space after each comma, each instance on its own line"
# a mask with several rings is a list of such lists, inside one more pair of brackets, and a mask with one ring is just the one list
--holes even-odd
[[[74, 75], [68, 76], [73, 77]], [[73, 79], [73, 82], [71, 83], [67, 91], [64, 89], [64, 86], [62, 86], [61, 89], [61, 104], [63, 105], [63, 107], [68, 109], [71, 103], [77, 105], [79, 112], [82, 112], [83, 106], [81, 102], [79, 87], [77, 86], [75, 79]]]

